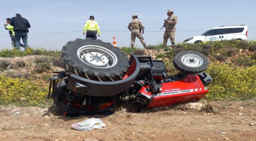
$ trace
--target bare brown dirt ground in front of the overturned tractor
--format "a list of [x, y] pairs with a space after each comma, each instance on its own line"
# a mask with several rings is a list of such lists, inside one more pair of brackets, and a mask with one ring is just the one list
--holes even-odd
[[[256, 123], [256, 101], [203, 104], [213, 105], [217, 112], [182, 104], [136, 113], [134, 107], [121, 105], [110, 116], [64, 117], [54, 114], [53, 107], [1, 106], [0, 141], [256, 141], [256, 125], [252, 124]], [[10, 116], [16, 111], [20, 114]], [[91, 117], [101, 118], [106, 127], [88, 132], [72, 129], [72, 123]]]

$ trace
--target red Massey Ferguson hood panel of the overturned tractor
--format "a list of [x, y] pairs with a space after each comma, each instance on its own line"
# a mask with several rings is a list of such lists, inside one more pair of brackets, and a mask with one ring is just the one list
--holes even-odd
[[189, 75], [183, 80], [162, 83], [162, 91], [158, 94], [148, 91], [148, 86], [142, 87], [139, 94], [152, 98], [148, 107], [161, 107], [203, 98], [209, 90], [204, 88], [198, 75]]

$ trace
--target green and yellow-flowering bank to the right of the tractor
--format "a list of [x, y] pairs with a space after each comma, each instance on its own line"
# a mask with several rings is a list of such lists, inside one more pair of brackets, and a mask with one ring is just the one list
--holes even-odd
[[[163, 60], [166, 71], [170, 75], [178, 73], [172, 61], [179, 52], [191, 50], [208, 56], [211, 63], [207, 73], [214, 80], [208, 85], [210, 92], [205, 97], [208, 100], [256, 98], [256, 41], [224, 40], [200, 44], [180, 43], [169, 47], [158, 44], [149, 47], [163, 51], [157, 57], [158, 59], [165, 58]], [[122, 48], [121, 50], [126, 52], [128, 49]]]

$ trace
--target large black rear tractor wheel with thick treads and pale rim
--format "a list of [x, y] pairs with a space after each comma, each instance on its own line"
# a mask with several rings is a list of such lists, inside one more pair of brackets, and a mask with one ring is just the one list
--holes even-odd
[[129, 62], [118, 47], [87, 38], [63, 46], [61, 66], [65, 71], [89, 80], [116, 81], [125, 76]]

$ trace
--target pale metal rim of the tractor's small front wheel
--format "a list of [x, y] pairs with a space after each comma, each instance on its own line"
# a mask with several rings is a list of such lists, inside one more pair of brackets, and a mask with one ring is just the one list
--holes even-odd
[[196, 54], [186, 54], [182, 56], [181, 61], [188, 67], [199, 67], [204, 63], [203, 59]]

